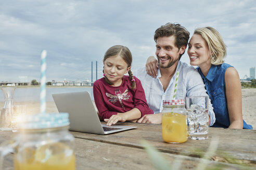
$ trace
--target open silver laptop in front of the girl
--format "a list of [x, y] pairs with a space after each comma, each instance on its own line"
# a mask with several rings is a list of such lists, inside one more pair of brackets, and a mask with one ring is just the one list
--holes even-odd
[[70, 131], [104, 135], [135, 128], [101, 124], [87, 91], [53, 94], [53, 98], [59, 112], [69, 113]]

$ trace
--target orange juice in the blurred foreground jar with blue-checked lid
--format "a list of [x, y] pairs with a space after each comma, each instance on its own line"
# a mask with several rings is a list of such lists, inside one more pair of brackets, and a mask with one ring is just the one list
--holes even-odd
[[14, 155], [15, 170], [75, 170], [73, 151], [61, 143], [24, 148], [20, 152], [20, 155]]

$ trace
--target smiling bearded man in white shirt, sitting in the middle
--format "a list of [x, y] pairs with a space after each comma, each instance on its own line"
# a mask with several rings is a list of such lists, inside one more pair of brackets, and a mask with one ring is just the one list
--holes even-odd
[[[184, 54], [189, 32], [180, 24], [167, 23], [160, 26], [154, 35], [156, 56], [158, 59], [158, 75], [151, 77], [146, 67], [135, 70], [134, 75], [140, 79], [145, 91], [149, 108], [153, 115], [145, 115], [138, 119], [139, 123], [162, 123], [163, 100], [173, 100], [176, 73], [179, 72], [175, 99], [186, 96], [207, 95], [204, 83], [196, 68], [180, 61]], [[209, 101], [209, 125], [215, 122], [213, 107]]]

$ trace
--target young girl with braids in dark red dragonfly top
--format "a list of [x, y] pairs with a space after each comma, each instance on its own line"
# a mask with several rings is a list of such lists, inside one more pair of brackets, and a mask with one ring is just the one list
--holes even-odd
[[[104, 78], [93, 84], [94, 101], [107, 125], [137, 120], [149, 109], [142, 83], [131, 71], [132, 54], [127, 47], [110, 47], [104, 55]], [[124, 74], [129, 73], [129, 76]]]

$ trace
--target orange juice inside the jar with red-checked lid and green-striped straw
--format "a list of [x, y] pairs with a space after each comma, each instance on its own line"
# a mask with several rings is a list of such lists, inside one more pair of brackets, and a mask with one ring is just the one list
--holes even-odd
[[162, 115], [162, 136], [167, 143], [184, 143], [187, 141], [186, 115], [165, 112]]

